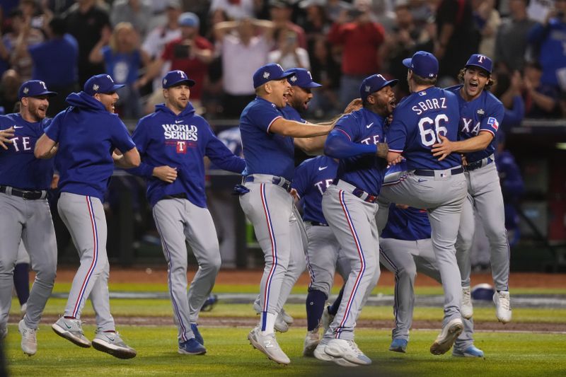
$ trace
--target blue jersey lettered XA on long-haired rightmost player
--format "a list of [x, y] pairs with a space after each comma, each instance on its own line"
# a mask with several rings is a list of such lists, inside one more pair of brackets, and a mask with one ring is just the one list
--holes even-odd
[[458, 127], [458, 140], [467, 140], [478, 136], [481, 131], [487, 131], [493, 135], [493, 139], [483, 151], [466, 153], [468, 163], [480, 161], [482, 158], [491, 156], [497, 147], [495, 134], [499, 125], [503, 122], [505, 109], [500, 100], [489, 91], [482, 91], [478, 98], [467, 102], [460, 93], [461, 85], [446, 88], [456, 94], [460, 107], [460, 124]]

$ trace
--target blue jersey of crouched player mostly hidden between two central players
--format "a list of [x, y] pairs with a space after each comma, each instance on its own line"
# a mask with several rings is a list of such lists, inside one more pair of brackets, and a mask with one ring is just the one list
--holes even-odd
[[323, 194], [336, 178], [338, 163], [328, 156], [303, 161], [295, 170], [293, 187], [303, 205], [304, 221], [327, 224], [321, 207]]

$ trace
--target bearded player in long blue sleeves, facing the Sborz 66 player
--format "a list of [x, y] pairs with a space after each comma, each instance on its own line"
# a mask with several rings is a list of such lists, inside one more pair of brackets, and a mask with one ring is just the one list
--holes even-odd
[[340, 365], [371, 364], [354, 342], [354, 327], [379, 279], [376, 199], [387, 165], [383, 128], [395, 108], [391, 87], [397, 82], [379, 74], [366, 77], [359, 88], [363, 108], [340, 118], [325, 143], [325, 154], [340, 158], [340, 163], [333, 184], [324, 192], [322, 209], [350, 274], [344, 300], [314, 356]]

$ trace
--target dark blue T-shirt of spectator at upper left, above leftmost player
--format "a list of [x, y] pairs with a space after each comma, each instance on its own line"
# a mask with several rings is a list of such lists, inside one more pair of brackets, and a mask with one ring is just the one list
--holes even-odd
[[28, 51], [33, 59], [32, 79], [44, 81], [47, 88], [69, 86], [79, 79], [79, 45], [72, 35], [30, 46]]

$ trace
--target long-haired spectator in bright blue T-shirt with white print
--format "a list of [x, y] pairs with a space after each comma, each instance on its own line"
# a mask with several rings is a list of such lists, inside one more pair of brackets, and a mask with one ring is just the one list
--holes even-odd
[[125, 84], [120, 91], [117, 112], [123, 117], [139, 119], [141, 101], [136, 81], [139, 68], [149, 64], [149, 56], [140, 50], [139, 35], [134, 26], [129, 22], [121, 22], [111, 35], [104, 31], [91, 51], [89, 60], [95, 64], [104, 62], [105, 72], [114, 78], [115, 83]]

